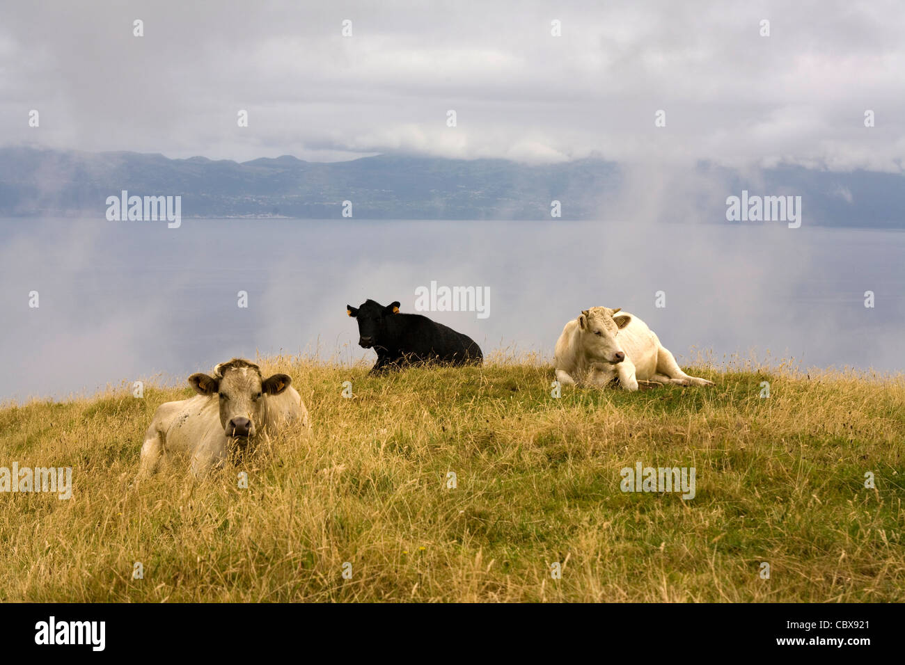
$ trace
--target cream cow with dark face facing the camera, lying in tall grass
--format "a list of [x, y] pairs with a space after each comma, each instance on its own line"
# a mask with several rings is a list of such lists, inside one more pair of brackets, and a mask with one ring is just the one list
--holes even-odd
[[231, 442], [248, 442], [282, 428], [310, 426], [308, 410], [288, 375], [263, 378], [261, 368], [241, 358], [193, 374], [194, 397], [157, 407], [141, 446], [138, 479], [147, 478], [166, 452], [191, 455], [195, 478], [222, 466]]

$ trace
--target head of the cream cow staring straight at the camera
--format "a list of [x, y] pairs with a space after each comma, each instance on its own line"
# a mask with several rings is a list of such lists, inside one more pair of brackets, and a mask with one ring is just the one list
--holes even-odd
[[292, 379], [284, 374], [262, 378], [261, 368], [240, 358], [214, 367], [214, 375], [193, 374], [188, 383], [198, 394], [216, 394], [220, 424], [227, 436], [254, 436], [262, 422], [267, 395], [281, 394]]

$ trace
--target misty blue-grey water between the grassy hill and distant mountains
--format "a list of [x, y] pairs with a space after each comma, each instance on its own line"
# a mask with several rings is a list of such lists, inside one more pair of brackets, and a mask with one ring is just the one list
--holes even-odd
[[346, 305], [414, 311], [431, 280], [490, 287], [488, 318], [427, 313], [485, 354], [551, 357], [568, 319], [605, 305], [643, 318], [680, 363], [753, 350], [901, 371], [903, 250], [905, 233], [778, 223], [4, 219], [0, 400], [181, 380], [256, 352], [373, 358]]

